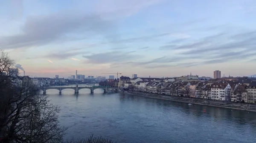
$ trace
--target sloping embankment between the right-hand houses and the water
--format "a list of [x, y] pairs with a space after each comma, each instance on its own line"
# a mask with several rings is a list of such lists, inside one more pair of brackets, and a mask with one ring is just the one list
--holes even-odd
[[161, 95], [161, 94], [154, 94], [154, 93], [143, 93], [143, 92], [137, 92], [137, 91], [124, 91], [123, 93], [130, 94], [130, 95], [149, 97], [149, 98], [169, 100], [169, 101], [184, 102], [184, 103], [190, 103], [190, 104], [199, 104], [199, 105], [206, 105], [206, 106], [212, 106], [212, 107], [239, 109], [239, 110], [256, 112], [255, 104], [246, 104], [246, 103], [244, 103], [244, 104], [241, 104], [241, 103], [227, 104], [226, 102], [222, 102], [222, 101], [212, 101], [212, 100], [201, 99], [201, 98], [186, 98], [186, 97], [180, 97], [180, 96]]

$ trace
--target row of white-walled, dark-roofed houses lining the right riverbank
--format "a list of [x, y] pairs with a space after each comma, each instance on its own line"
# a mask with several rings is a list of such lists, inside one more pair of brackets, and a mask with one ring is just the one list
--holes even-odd
[[164, 95], [204, 98], [219, 101], [256, 103], [256, 81], [244, 79], [212, 79], [200, 81], [182, 78], [120, 77], [118, 85], [130, 90]]

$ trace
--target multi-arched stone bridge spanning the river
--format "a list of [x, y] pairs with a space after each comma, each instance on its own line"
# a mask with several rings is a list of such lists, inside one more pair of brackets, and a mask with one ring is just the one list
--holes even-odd
[[76, 87], [43, 87], [42, 88], [44, 94], [46, 93], [47, 90], [51, 90], [51, 89], [59, 90], [59, 93], [61, 93], [61, 90], [64, 90], [64, 89], [73, 89], [75, 90], [75, 93], [79, 93], [79, 90], [81, 89], [90, 89], [90, 93], [93, 93], [93, 90], [96, 90], [96, 89], [102, 89], [104, 90], [104, 93], [107, 93], [108, 90], [114, 90], [114, 91], [119, 90], [118, 87], [102, 87], [102, 86], [78, 87], [78, 85], [76, 85]]

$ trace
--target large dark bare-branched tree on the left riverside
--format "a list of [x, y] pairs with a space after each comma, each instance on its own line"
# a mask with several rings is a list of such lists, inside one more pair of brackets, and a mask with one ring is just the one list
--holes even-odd
[[39, 94], [29, 77], [9, 73], [14, 62], [0, 53], [0, 137], [3, 143], [61, 143], [60, 111]]

